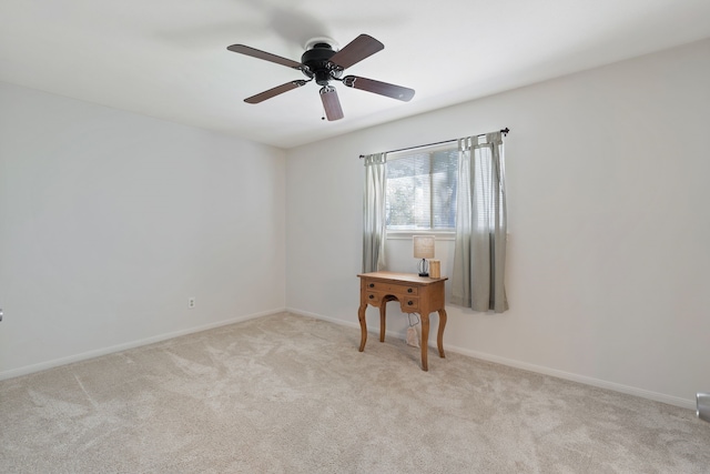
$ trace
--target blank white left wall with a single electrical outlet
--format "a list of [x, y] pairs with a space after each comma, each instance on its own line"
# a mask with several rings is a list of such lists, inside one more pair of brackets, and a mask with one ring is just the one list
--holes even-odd
[[283, 150], [0, 83], [0, 379], [282, 310], [284, 212]]

